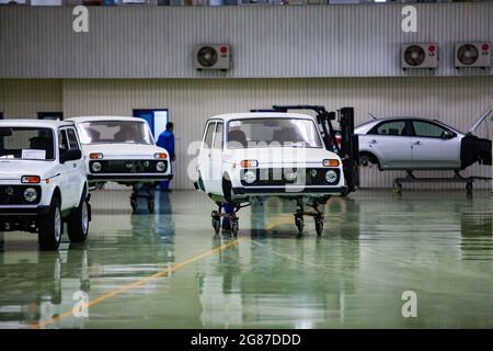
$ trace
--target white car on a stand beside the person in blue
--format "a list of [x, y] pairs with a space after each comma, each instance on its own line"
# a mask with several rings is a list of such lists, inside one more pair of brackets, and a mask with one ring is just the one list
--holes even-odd
[[82, 143], [88, 179], [96, 188], [107, 181], [131, 185], [131, 207], [137, 210], [138, 189], [145, 184], [153, 212], [151, 186], [172, 178], [168, 151], [156, 146], [145, 120], [118, 116], [73, 117]]

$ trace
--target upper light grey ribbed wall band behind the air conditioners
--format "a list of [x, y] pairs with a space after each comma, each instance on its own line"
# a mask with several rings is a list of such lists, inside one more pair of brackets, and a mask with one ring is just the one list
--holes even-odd
[[[0, 8], [3, 78], [305, 78], [491, 76], [454, 68], [454, 44], [493, 42], [493, 2], [307, 7], [91, 7], [89, 32], [72, 8]], [[436, 43], [436, 71], [403, 71], [401, 45]], [[193, 69], [195, 44], [229, 44], [227, 72]], [[13, 49], [14, 48], [14, 49]]]

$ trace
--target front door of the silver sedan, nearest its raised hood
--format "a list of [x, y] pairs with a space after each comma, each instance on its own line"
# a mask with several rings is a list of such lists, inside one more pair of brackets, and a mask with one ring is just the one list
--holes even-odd
[[413, 120], [412, 161], [415, 169], [459, 169], [460, 138], [432, 121]]

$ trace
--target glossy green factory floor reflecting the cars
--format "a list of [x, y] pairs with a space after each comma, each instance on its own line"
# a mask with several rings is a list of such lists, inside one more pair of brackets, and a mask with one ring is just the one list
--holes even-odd
[[[131, 215], [128, 196], [93, 193], [88, 242], [59, 252], [0, 234], [0, 328], [493, 327], [489, 191], [334, 197], [320, 238], [309, 218], [297, 238], [295, 206], [273, 199], [242, 210], [240, 241], [215, 251], [234, 238], [214, 235], [204, 194], [157, 193], [154, 215]], [[88, 318], [71, 314], [78, 291]]]

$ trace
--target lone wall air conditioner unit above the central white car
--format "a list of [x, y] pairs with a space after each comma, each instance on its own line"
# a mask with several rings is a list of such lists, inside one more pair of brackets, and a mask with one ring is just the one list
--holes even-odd
[[204, 44], [194, 47], [194, 68], [221, 69], [231, 68], [231, 47], [226, 44]]

